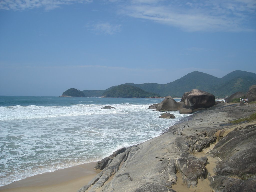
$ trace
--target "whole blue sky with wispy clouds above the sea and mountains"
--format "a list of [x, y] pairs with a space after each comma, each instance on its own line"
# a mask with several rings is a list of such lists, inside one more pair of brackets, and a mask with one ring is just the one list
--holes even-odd
[[235, 70], [256, 73], [256, 0], [0, 1], [0, 95]]

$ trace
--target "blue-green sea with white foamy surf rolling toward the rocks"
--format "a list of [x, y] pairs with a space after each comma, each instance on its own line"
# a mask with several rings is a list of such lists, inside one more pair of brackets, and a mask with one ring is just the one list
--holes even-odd
[[188, 116], [177, 111], [171, 112], [176, 119], [158, 118], [161, 113], [148, 107], [161, 101], [0, 96], [0, 186], [100, 161]]

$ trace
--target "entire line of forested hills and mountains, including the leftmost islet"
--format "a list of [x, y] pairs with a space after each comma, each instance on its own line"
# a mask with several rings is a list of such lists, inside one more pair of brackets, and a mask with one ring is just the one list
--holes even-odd
[[181, 98], [185, 92], [199, 89], [225, 98], [238, 91], [246, 93], [250, 86], [256, 84], [256, 74], [246, 71], [233, 71], [222, 78], [207, 73], [194, 71], [184, 77], [167, 83], [126, 83], [106, 90], [84, 90], [71, 88], [62, 97], [113, 97], [113, 98], [148, 98], [166, 97]]

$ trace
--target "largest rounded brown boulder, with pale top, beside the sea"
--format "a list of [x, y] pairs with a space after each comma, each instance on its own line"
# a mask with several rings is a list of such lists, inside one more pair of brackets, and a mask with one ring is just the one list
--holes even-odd
[[186, 92], [182, 98], [183, 101], [185, 100], [185, 105], [194, 109], [210, 108], [215, 104], [215, 96], [213, 94], [198, 89], [193, 89], [190, 93]]

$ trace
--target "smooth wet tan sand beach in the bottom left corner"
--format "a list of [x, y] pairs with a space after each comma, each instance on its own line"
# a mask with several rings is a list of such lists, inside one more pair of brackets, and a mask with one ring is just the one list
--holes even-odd
[[86, 163], [66, 169], [60, 169], [55, 172], [35, 175], [0, 187], [0, 191], [77, 192], [100, 172], [100, 170], [93, 169], [95, 164], [96, 163]]

